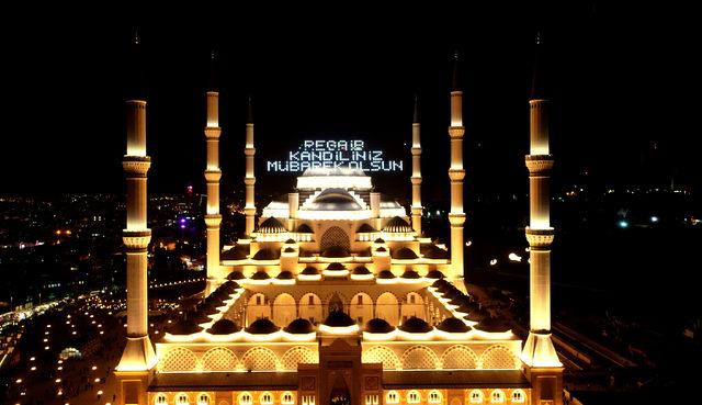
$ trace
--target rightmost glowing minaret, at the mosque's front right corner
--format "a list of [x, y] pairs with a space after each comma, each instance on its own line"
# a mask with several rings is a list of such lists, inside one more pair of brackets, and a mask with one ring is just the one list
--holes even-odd
[[553, 157], [548, 148], [548, 112], [551, 100], [543, 86], [542, 40], [536, 35], [536, 59], [530, 109], [529, 169], [530, 224], [526, 227], [530, 260], [530, 333], [521, 359], [532, 382], [534, 398], [551, 400], [561, 404], [563, 364], [551, 340], [551, 244], [554, 229], [551, 226], [550, 183]]

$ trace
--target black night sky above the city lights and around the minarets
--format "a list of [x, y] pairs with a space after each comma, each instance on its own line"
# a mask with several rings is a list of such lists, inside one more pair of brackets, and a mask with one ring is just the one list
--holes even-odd
[[[407, 159], [417, 91], [424, 190], [444, 194], [454, 48], [463, 59], [469, 187], [525, 190], [539, 29], [550, 54], [556, 176], [575, 182], [587, 171], [596, 183], [636, 182], [646, 180], [642, 164], [655, 158], [659, 173], [700, 182], [700, 42], [699, 29], [683, 18], [689, 12], [663, 3], [568, 1], [540, 12], [531, 2], [480, 3], [412, 9], [409, 18], [400, 16], [406, 10], [283, 10], [272, 3], [258, 10], [137, 12], [137, 4], [124, 3], [5, 13], [0, 193], [122, 193], [132, 69], [144, 69], [148, 85], [150, 190], [182, 192], [191, 183], [202, 190], [213, 48], [225, 192], [242, 185], [248, 93], [261, 157], [257, 187], [281, 188], [260, 162], [304, 138], [362, 138]], [[129, 60], [135, 29], [144, 66]], [[405, 189], [395, 192], [409, 192], [409, 170], [403, 176]]]

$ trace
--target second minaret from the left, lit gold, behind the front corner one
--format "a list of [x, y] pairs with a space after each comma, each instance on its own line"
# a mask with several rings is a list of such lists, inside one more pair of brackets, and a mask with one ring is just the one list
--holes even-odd
[[205, 225], [207, 226], [207, 278], [219, 278], [219, 92], [216, 90], [214, 69], [215, 54], [211, 58], [211, 83], [207, 91], [207, 122], [205, 124], [205, 140], [207, 143], [207, 162], [205, 166], [205, 181], [207, 182], [207, 211]]

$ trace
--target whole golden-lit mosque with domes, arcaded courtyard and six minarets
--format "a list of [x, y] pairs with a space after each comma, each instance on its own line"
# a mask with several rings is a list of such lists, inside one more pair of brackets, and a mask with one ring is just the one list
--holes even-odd
[[[537, 48], [541, 48], [537, 41]], [[540, 50], [537, 50], [539, 53]], [[218, 92], [206, 93], [207, 288], [151, 344], [147, 320], [146, 101], [127, 101], [127, 342], [117, 404], [562, 404], [551, 340], [550, 101], [530, 100], [531, 249], [526, 341], [464, 284], [463, 92], [454, 67], [446, 143], [450, 243], [421, 229], [415, 103], [409, 215], [358, 169], [310, 168], [257, 217], [251, 103], [246, 124], [246, 238], [222, 246]], [[537, 71], [537, 69], [535, 69]], [[408, 133], [408, 138], [409, 138]]]

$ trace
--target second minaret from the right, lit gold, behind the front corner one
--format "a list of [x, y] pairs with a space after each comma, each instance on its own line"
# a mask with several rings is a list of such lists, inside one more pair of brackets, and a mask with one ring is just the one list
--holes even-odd
[[465, 214], [463, 213], [463, 91], [458, 88], [458, 53], [453, 55], [453, 85], [451, 88], [451, 126], [449, 136], [451, 138], [451, 167], [449, 168], [449, 179], [451, 179], [451, 212], [449, 223], [451, 224], [451, 269], [450, 279], [463, 279], [463, 224]]

